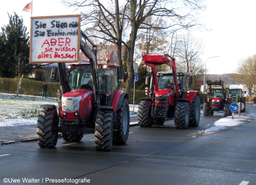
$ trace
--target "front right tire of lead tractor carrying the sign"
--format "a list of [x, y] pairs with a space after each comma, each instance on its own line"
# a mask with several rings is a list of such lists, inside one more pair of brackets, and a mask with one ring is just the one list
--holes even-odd
[[110, 151], [113, 140], [113, 112], [98, 111], [95, 121], [95, 149]]

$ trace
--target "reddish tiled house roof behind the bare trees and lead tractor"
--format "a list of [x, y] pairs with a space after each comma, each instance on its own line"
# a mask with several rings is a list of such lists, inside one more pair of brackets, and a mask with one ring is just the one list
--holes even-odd
[[[125, 46], [122, 46], [122, 61], [124, 61], [124, 51], [125, 51]], [[110, 62], [111, 64], [115, 64], [116, 65], [116, 45], [102, 45], [100, 43], [100, 45], [98, 46], [98, 55], [97, 55], [97, 60], [98, 63], [101, 63], [101, 61], [103, 60], [104, 63], [106, 63], [106, 57], [110, 56]], [[87, 57], [85, 57], [84, 53], [81, 51], [80, 52], [80, 59], [81, 60], [86, 60], [89, 61], [89, 59]]]

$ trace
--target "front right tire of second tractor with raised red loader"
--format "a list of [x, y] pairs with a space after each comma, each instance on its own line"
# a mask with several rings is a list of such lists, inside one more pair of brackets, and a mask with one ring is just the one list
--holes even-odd
[[189, 123], [189, 104], [188, 102], [177, 102], [174, 111], [175, 128], [186, 129]]

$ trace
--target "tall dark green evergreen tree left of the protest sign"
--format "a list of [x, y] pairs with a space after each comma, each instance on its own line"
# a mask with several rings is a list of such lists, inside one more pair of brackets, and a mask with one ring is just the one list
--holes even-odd
[[[8, 16], [9, 24], [1, 27], [0, 33], [0, 76], [19, 78], [28, 75], [33, 67], [29, 64], [29, 33], [16, 12], [13, 16], [8, 13]], [[20, 56], [22, 60], [17, 60]]]

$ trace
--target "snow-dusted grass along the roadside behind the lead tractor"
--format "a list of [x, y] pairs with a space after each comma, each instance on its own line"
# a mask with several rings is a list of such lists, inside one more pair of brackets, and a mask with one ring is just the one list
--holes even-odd
[[[36, 124], [40, 105], [43, 104], [57, 106], [58, 99], [0, 93], [0, 127]], [[138, 107], [134, 105], [133, 111], [133, 105], [129, 105], [131, 117], [138, 115]]]

